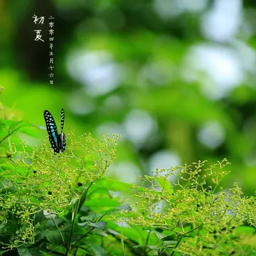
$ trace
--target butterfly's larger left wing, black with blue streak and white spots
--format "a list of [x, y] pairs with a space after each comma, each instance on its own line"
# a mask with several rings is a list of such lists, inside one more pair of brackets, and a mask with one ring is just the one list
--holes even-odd
[[46, 129], [49, 135], [49, 141], [50, 141], [50, 145], [53, 148], [53, 151], [55, 153], [59, 153], [60, 149], [58, 147], [58, 129], [57, 126], [55, 124], [55, 121], [53, 119], [53, 115], [50, 114], [50, 112], [48, 112], [48, 110], [45, 110], [43, 113], [43, 117], [46, 120]]

